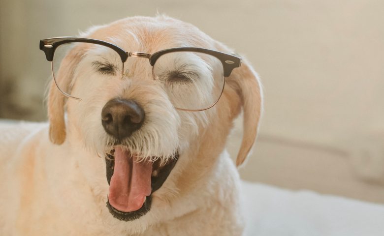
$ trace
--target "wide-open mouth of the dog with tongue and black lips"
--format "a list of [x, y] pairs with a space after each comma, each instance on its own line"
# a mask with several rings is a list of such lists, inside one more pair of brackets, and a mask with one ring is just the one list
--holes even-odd
[[131, 221], [145, 215], [151, 209], [152, 194], [165, 182], [179, 159], [161, 164], [140, 160], [121, 146], [115, 146], [112, 154], [105, 158], [109, 194], [107, 207], [117, 219]]

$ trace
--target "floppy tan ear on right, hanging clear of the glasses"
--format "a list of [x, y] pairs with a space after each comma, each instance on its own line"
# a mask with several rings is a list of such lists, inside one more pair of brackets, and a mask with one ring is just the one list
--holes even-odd
[[262, 111], [262, 90], [256, 72], [247, 60], [235, 68], [227, 81], [238, 93], [244, 111], [243, 140], [236, 158], [236, 166], [243, 164], [256, 140]]

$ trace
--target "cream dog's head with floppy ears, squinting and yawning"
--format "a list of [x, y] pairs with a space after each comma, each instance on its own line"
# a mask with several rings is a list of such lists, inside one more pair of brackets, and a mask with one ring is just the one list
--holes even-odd
[[[192, 25], [163, 16], [127, 18], [92, 28], [82, 37], [149, 54], [175, 47], [230, 52]], [[160, 208], [170, 207], [191, 191], [188, 182], [212, 170], [242, 107], [246, 129], [236, 164], [243, 163], [255, 141], [261, 111], [259, 82], [247, 62], [225, 79], [215, 106], [191, 112], [175, 108], [175, 102], [196, 102], [188, 96], [191, 88], [175, 86], [187, 95], [174, 101], [164, 82], [154, 79], [158, 72], [147, 59], [128, 58], [124, 77], [116, 76], [113, 68], [92, 72], [101, 59], [113, 63], [116, 55], [97, 45], [72, 49], [61, 63], [59, 83], [81, 94], [81, 100], [66, 99], [52, 83], [48, 110], [51, 141], [59, 145], [65, 141], [76, 150], [79, 168], [107, 219], [146, 225], [159, 221]], [[203, 78], [192, 88], [200, 93], [198, 99], [210, 99], [207, 91], [214, 86], [220, 65], [192, 56], [184, 59], [193, 62], [184, 69]], [[161, 68], [174, 71], [179, 66], [173, 61], [163, 60]]]

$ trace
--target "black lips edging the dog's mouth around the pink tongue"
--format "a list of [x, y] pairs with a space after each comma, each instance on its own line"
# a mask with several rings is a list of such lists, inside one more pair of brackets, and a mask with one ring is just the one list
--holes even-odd
[[[150, 211], [151, 204], [152, 204], [152, 194], [162, 186], [162, 184], [165, 182], [165, 180], [171, 173], [172, 169], [175, 167], [178, 160], [179, 160], [179, 152], [176, 152], [174, 155], [174, 158], [169, 160], [165, 164], [165, 166], [159, 169], [158, 175], [156, 177], [151, 177], [151, 188], [152, 188], [151, 194], [147, 196], [143, 206], [140, 209], [135, 211], [130, 211], [130, 212], [120, 211], [115, 207], [112, 207], [109, 204], [109, 200], [107, 200], [107, 208], [109, 212], [112, 214], [112, 216], [119, 220], [132, 221], [140, 218], [141, 216], [145, 215], [148, 211]], [[110, 184], [111, 177], [113, 175], [115, 161], [113, 160], [113, 157], [111, 155], [107, 154], [107, 158], [105, 158], [105, 162], [106, 162], [106, 168], [107, 168], [107, 181], [108, 181], [108, 184]], [[156, 165], [159, 165], [159, 162], [154, 162], [154, 167]]]

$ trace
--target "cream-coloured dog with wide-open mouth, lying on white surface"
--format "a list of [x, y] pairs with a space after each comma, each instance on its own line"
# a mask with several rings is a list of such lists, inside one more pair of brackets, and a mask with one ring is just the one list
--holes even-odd
[[[139, 52], [191, 45], [230, 53], [226, 46], [192, 25], [165, 16], [131, 17], [94, 27], [82, 36]], [[70, 63], [75, 62], [76, 58]], [[65, 66], [62, 64], [64, 69]], [[93, 86], [97, 92], [83, 89], [81, 101], [66, 99], [52, 83], [48, 95], [49, 124], [0, 126], [0, 235], [242, 234], [240, 179], [224, 147], [233, 119], [242, 108], [245, 129], [236, 165], [243, 163], [255, 141], [261, 90], [252, 67], [243, 61], [225, 79], [219, 102], [200, 112], [175, 109], [154, 83], [148, 61], [138, 61], [129, 70], [132, 75], [126, 80], [96, 80]], [[65, 83], [76, 88], [81, 81], [68, 76]], [[120, 186], [112, 182], [123, 177], [107, 180], [108, 170], [113, 171], [114, 166], [103, 154], [114, 148], [115, 155], [122, 155], [135, 147], [128, 141], [123, 146], [113, 146], [100, 122], [103, 107], [113, 98], [144, 104], [146, 123], [132, 135], [135, 147], [145, 153], [142, 162], [153, 164], [160, 160], [159, 166], [174, 165], [168, 165], [169, 173], [162, 176], [165, 181], [150, 196], [151, 189], [147, 187], [147, 198], [129, 198], [131, 202], [124, 206], [119, 205], [119, 197], [128, 197], [112, 196], [124, 191], [111, 190], [112, 185]], [[169, 161], [174, 153], [178, 159]], [[131, 171], [144, 170], [137, 167], [140, 163], [131, 162]], [[115, 165], [117, 169], [122, 164]], [[151, 168], [153, 177], [164, 172]], [[145, 184], [134, 186], [149, 186]], [[123, 214], [116, 208], [133, 213]]]

